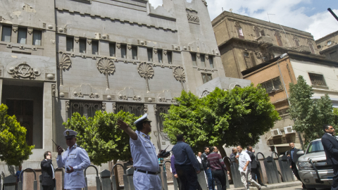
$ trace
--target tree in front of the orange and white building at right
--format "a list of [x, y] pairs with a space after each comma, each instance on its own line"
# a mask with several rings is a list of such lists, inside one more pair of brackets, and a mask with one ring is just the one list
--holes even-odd
[[296, 84], [289, 84], [289, 92], [289, 113], [294, 120], [293, 129], [303, 133], [303, 148], [306, 148], [310, 141], [323, 136], [323, 124], [333, 124], [332, 101], [327, 94], [320, 99], [312, 99], [312, 87], [306, 84], [301, 75]]

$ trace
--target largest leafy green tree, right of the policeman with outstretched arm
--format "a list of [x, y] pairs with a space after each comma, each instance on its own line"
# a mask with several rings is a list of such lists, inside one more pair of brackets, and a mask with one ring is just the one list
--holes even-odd
[[179, 106], [172, 105], [168, 114], [163, 114], [164, 132], [168, 132], [172, 144], [177, 134], [184, 134], [196, 153], [204, 146], [217, 146], [226, 156], [224, 144], [254, 145], [279, 119], [265, 89], [253, 84], [227, 91], [216, 88], [201, 99], [182, 91], [176, 101]]

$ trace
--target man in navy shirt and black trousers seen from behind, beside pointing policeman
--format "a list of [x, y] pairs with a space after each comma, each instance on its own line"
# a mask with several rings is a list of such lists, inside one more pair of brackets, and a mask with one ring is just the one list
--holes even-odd
[[199, 161], [192, 148], [185, 143], [183, 134], [177, 135], [177, 144], [172, 151], [175, 156], [175, 168], [185, 190], [200, 189], [197, 174], [200, 172]]

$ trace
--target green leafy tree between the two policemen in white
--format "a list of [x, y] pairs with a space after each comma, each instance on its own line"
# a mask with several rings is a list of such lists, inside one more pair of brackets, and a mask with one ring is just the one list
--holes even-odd
[[96, 111], [94, 118], [88, 119], [73, 113], [63, 125], [77, 132], [77, 144], [87, 151], [92, 163], [101, 165], [111, 160], [131, 158], [130, 137], [118, 128], [118, 119], [136, 129], [134, 121], [137, 117], [122, 110], [117, 114]]

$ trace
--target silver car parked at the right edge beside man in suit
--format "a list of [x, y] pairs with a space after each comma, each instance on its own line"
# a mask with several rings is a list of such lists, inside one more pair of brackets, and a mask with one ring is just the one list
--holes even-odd
[[332, 165], [327, 165], [325, 151], [322, 140], [315, 139], [308, 144], [306, 152], [298, 151], [299, 157], [297, 169], [301, 181], [306, 185], [306, 189], [330, 188], [332, 184], [333, 169]]

